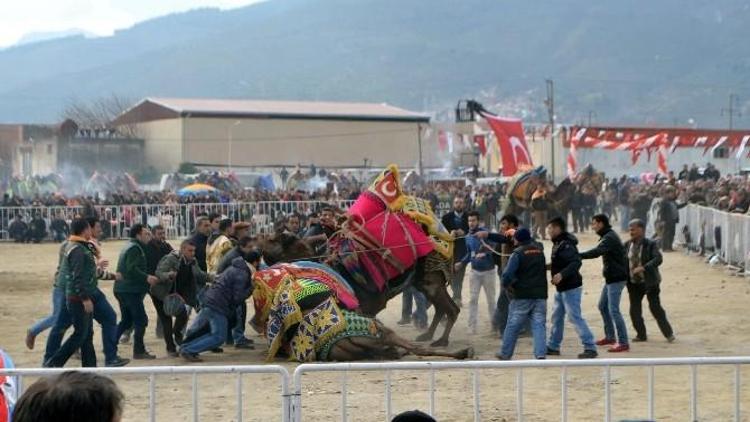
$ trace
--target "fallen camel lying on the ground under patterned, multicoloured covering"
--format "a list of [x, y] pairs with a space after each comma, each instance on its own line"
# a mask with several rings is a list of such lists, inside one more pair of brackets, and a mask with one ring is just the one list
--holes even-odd
[[254, 325], [268, 339], [267, 359], [298, 362], [399, 359], [406, 354], [470, 359], [471, 347], [422, 347], [360, 314], [349, 283], [311, 261], [276, 264], [253, 276]]

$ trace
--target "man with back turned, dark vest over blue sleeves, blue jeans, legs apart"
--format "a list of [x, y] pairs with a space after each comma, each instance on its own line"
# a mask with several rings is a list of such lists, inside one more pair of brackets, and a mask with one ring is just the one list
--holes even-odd
[[547, 320], [547, 270], [541, 243], [531, 239], [529, 229], [523, 227], [513, 235], [516, 249], [503, 272], [503, 287], [512, 295], [508, 326], [503, 333], [503, 344], [495, 356], [510, 360], [516, 348], [521, 327], [531, 319], [534, 338], [534, 357], [544, 359], [547, 352], [545, 337]]

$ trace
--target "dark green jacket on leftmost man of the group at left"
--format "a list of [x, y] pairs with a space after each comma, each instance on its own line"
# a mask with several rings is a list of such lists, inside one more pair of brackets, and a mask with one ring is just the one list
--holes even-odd
[[85, 243], [70, 241], [66, 244], [57, 283], [68, 299], [83, 301], [96, 292], [96, 260]]

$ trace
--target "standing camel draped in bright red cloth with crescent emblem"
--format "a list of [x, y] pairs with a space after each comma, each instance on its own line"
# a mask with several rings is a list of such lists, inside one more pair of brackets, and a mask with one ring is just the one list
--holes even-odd
[[[375, 317], [391, 298], [413, 285], [435, 307], [428, 330], [417, 341], [429, 341], [447, 318], [442, 336], [430, 346], [447, 346], [459, 307], [448, 294], [452, 237], [426, 201], [403, 194], [395, 166], [386, 168], [347, 211], [329, 240], [324, 260], [351, 286], [357, 312]], [[273, 265], [305, 260], [314, 254], [296, 236], [279, 234], [261, 244]]]

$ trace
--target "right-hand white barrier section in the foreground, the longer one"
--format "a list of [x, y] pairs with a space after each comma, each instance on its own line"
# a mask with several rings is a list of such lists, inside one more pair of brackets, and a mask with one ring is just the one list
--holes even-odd
[[[568, 368], [595, 367], [603, 370], [604, 377], [604, 420], [612, 420], [612, 379], [611, 369], [613, 367], [643, 367], [647, 370], [648, 386], [646, 395], [648, 399], [649, 419], [653, 420], [655, 415], [655, 392], [654, 368], [657, 366], [688, 366], [690, 368], [690, 415], [692, 421], [699, 420], [698, 416], [698, 367], [707, 365], [731, 365], [734, 368], [734, 406], [732, 413], [734, 421], [741, 421], [741, 366], [750, 365], [750, 357], [711, 357], [711, 358], [655, 358], [655, 359], [592, 359], [592, 360], [519, 360], [519, 361], [464, 361], [464, 362], [389, 362], [389, 363], [331, 363], [331, 364], [303, 364], [297, 367], [293, 375], [292, 390], [292, 411], [293, 420], [302, 421], [304, 409], [302, 403], [302, 393], [304, 390], [302, 376], [309, 373], [318, 372], [339, 372], [341, 376], [341, 404], [340, 420], [347, 421], [349, 412], [347, 407], [348, 396], [348, 376], [351, 371], [377, 371], [382, 372], [385, 379], [384, 407], [385, 420], [390, 421], [392, 418], [391, 403], [391, 373], [393, 371], [428, 371], [429, 372], [429, 414], [435, 415], [435, 375], [440, 370], [469, 370], [472, 374], [472, 396], [473, 396], [473, 419], [474, 421], [482, 420], [480, 408], [480, 370], [487, 369], [508, 369], [516, 371], [516, 420], [524, 420], [524, 369], [526, 368], [558, 368], [560, 369], [560, 397], [561, 409], [560, 420], [568, 421]], [[309, 397], [309, 396], [306, 396]], [[333, 414], [322, 416], [316, 414], [316, 417], [325, 420], [334, 420]], [[575, 420], [572, 419], [572, 420]]]

